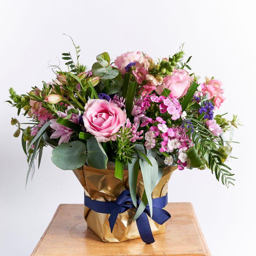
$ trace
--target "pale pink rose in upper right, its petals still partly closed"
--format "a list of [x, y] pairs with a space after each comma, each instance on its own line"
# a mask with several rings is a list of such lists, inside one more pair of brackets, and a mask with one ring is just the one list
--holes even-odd
[[172, 76], [165, 76], [163, 84], [156, 87], [156, 92], [160, 95], [164, 88], [171, 90], [170, 97], [181, 98], [188, 92], [191, 80], [193, 78], [188, 75], [184, 69], [174, 69]]

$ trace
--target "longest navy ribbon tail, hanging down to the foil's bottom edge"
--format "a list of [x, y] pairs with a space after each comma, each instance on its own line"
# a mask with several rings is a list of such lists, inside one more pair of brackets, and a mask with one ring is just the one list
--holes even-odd
[[148, 216], [145, 212], [142, 212], [138, 219], [136, 220], [136, 224], [140, 233], [140, 237], [144, 243], [153, 244], [155, 239], [153, 237]]

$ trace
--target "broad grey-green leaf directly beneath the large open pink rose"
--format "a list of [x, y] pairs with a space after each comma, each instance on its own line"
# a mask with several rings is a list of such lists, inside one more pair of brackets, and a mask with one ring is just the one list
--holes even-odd
[[107, 169], [108, 156], [94, 136], [87, 140], [87, 163], [96, 169]]

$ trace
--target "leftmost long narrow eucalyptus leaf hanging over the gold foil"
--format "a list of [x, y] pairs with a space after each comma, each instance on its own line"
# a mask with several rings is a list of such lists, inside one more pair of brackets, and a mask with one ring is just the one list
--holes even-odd
[[132, 197], [132, 203], [137, 208], [137, 180], [138, 180], [138, 173], [140, 169], [140, 162], [139, 156], [136, 152], [133, 153], [131, 163], [128, 163], [128, 175], [129, 175], [129, 188]]

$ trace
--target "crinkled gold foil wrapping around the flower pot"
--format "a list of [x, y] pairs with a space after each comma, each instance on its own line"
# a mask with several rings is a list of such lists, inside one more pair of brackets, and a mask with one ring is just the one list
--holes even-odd
[[[128, 170], [124, 170], [123, 180], [118, 180], [114, 176], [114, 165], [108, 165], [107, 168], [106, 170], [99, 170], [84, 165], [82, 170], [73, 170], [77, 179], [84, 187], [86, 196], [89, 196], [93, 200], [115, 201], [122, 191], [125, 189], [129, 190]], [[164, 168], [163, 176], [154, 188], [152, 198], [166, 195], [168, 181], [172, 172], [176, 169], [177, 166]], [[144, 184], [141, 172], [139, 171], [137, 194], [140, 198], [143, 191]], [[136, 222], [132, 220], [134, 214], [135, 209], [133, 208], [119, 213], [113, 232], [111, 233], [108, 222], [109, 214], [94, 212], [84, 206], [84, 219], [87, 221], [87, 226], [106, 243], [117, 243], [140, 238]], [[160, 225], [149, 217], [148, 219], [153, 235], [165, 232], [165, 223]]]

